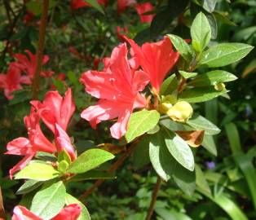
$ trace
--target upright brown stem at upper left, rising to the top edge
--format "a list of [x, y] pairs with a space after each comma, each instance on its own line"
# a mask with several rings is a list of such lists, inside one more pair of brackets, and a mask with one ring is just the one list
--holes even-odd
[[40, 28], [39, 28], [37, 68], [33, 76], [33, 82], [32, 82], [33, 99], [38, 99], [38, 93], [39, 93], [40, 73], [42, 70], [42, 56], [43, 56], [44, 42], [46, 37], [46, 23], [47, 23], [48, 8], [49, 8], [49, 0], [43, 0], [42, 15], [40, 20]]

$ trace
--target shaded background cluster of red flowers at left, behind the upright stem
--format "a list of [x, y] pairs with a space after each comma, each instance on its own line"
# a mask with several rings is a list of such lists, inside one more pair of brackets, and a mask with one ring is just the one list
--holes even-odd
[[[13, 57], [16, 59], [9, 64], [7, 73], [0, 73], [0, 89], [4, 90], [7, 99], [13, 99], [12, 92], [21, 90], [21, 84], [29, 85], [32, 83], [34, 74], [37, 68], [37, 58], [31, 51], [25, 51], [27, 55], [15, 54]], [[46, 64], [49, 60], [48, 55], [44, 55], [42, 65]], [[24, 75], [22, 75], [24, 73]], [[51, 77], [54, 74], [51, 70], [42, 71], [42, 77]]]

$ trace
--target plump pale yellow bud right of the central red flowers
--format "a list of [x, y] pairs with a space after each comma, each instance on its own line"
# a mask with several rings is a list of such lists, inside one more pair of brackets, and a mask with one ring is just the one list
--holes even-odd
[[192, 117], [193, 108], [190, 103], [180, 101], [175, 103], [166, 113], [173, 121], [186, 122]]

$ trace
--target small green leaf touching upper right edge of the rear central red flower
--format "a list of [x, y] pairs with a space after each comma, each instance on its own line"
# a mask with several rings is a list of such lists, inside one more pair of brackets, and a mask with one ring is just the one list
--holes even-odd
[[167, 34], [170, 37], [170, 41], [173, 43], [175, 49], [179, 51], [179, 54], [185, 59], [188, 63], [192, 61], [192, 49], [183, 38], [176, 36], [174, 34]]

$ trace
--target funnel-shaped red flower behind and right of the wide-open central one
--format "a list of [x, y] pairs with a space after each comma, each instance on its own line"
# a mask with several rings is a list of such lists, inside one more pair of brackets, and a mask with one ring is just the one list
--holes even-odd
[[130, 43], [135, 59], [138, 60], [143, 71], [148, 73], [152, 87], [159, 92], [166, 74], [179, 59], [179, 53], [174, 52], [169, 37], [165, 37], [160, 42], [146, 42], [143, 46], [138, 46], [127, 37], [126, 41]]

